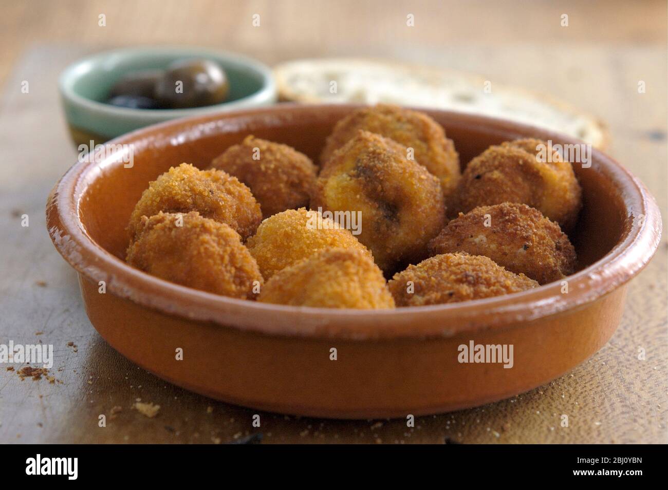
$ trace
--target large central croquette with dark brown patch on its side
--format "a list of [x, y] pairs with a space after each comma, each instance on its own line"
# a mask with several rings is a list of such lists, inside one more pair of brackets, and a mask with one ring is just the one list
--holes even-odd
[[311, 208], [359, 212], [357, 238], [385, 272], [426, 257], [427, 243], [445, 220], [438, 178], [405, 158], [403, 147], [360, 131], [329, 159]]

